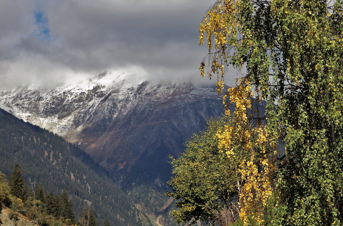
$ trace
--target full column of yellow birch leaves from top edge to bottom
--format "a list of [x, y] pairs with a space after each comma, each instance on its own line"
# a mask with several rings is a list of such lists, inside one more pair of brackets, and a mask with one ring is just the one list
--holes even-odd
[[[199, 44], [205, 42], [206, 35], [206, 44], [209, 54], [212, 55], [209, 58], [211, 67], [207, 74], [210, 78], [212, 73], [217, 74], [218, 93], [222, 93], [224, 89], [223, 76], [224, 68], [228, 64], [229, 46], [239, 45], [239, 4], [238, 0], [218, 0], [200, 23]], [[245, 30], [244, 35], [249, 36], [249, 30]], [[201, 76], [205, 75], [205, 66], [204, 62], [200, 65]], [[262, 214], [272, 194], [271, 176], [275, 170], [273, 162], [276, 156], [274, 141], [268, 136], [264, 125], [252, 126], [249, 122], [253, 100], [251, 89], [249, 79], [243, 77], [237, 79], [236, 86], [229, 88], [223, 95], [225, 106], [228, 97], [230, 102], [236, 105], [233, 113], [235, 124], [225, 125], [216, 135], [219, 138], [219, 149], [225, 152], [228, 158], [234, 158], [240, 153], [249, 157], [242, 160], [239, 168], [242, 185], [240, 218], [245, 226], [249, 225], [249, 222], [254, 222], [255, 225], [262, 225], [264, 222]], [[231, 116], [228, 108], [225, 114]]]

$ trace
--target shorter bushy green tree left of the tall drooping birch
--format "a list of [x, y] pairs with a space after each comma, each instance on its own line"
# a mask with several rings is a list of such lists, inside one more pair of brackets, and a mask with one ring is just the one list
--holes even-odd
[[230, 120], [212, 118], [205, 130], [195, 134], [185, 146], [185, 152], [172, 158], [172, 191], [167, 196], [175, 198], [177, 210], [172, 212], [177, 223], [195, 224], [197, 220], [212, 225], [226, 226], [238, 215], [238, 165], [244, 153], [227, 159], [220, 152], [219, 138], [215, 137], [223, 124], [233, 125]]

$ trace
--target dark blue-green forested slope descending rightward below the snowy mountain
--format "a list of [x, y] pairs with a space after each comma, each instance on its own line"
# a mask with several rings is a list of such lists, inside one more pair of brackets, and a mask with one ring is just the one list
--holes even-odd
[[32, 189], [42, 183], [46, 191], [61, 193], [66, 187], [76, 219], [84, 203], [91, 204], [100, 222], [111, 225], [150, 225], [89, 155], [61, 137], [25, 123], [0, 109], [0, 171], [9, 178], [19, 163]]

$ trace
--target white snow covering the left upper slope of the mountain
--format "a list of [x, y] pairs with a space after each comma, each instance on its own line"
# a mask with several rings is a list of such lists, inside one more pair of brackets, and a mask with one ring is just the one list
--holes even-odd
[[[82, 123], [89, 119], [104, 97], [113, 95], [118, 103], [130, 99], [130, 91], [141, 82], [126, 82], [123, 73], [113, 75], [104, 72], [98, 76], [67, 85], [46, 89], [34, 85], [14, 90], [0, 91], [0, 108], [16, 117], [39, 125], [60, 136], [71, 130], [82, 129]], [[79, 117], [80, 114], [83, 117]], [[115, 115], [113, 115], [115, 116]]]

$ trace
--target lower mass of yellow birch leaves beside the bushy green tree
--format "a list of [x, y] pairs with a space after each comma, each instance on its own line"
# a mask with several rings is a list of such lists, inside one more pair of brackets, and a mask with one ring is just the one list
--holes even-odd
[[[273, 157], [276, 151], [271, 151], [274, 145], [264, 126], [253, 127], [248, 120], [248, 110], [251, 109], [253, 96], [249, 81], [243, 78], [236, 82], [237, 86], [228, 89], [230, 101], [236, 104], [236, 123], [225, 125], [223, 131], [218, 131], [219, 148], [222, 152], [225, 151], [228, 158], [242, 152], [248, 154], [249, 158], [243, 159], [239, 168], [243, 185], [240, 193], [240, 218], [244, 225], [252, 221], [256, 225], [262, 225], [263, 209], [272, 195], [270, 185], [275, 169]], [[231, 113], [226, 110], [226, 114], [229, 116]]]

